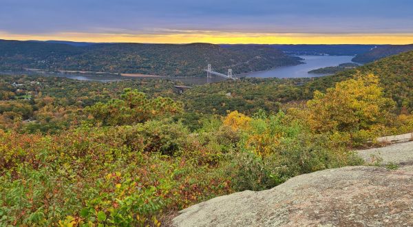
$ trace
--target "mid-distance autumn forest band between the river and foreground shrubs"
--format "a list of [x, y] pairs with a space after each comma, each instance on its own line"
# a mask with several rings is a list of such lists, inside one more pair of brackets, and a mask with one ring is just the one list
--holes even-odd
[[[30, 125], [43, 127], [44, 130], [58, 122], [60, 127], [67, 127], [70, 125], [70, 116], [75, 111], [96, 102], [107, 102], [119, 96], [123, 89], [131, 87], [144, 92], [149, 98], [163, 96], [180, 100], [187, 110], [186, 121], [191, 122], [192, 119], [197, 122], [200, 118], [197, 114], [224, 115], [227, 111], [235, 110], [243, 114], [253, 114], [259, 109], [276, 113], [282, 109], [282, 105], [299, 105], [301, 101], [313, 98], [314, 91], [326, 91], [338, 81], [352, 78], [354, 74], [379, 76], [379, 85], [385, 96], [396, 102], [396, 110], [410, 113], [413, 110], [412, 61], [413, 52], [407, 52], [332, 76], [295, 79], [242, 78], [237, 81], [227, 80], [195, 86], [184, 91], [182, 95], [173, 87], [182, 83], [171, 80], [143, 79], [98, 83], [53, 77], [2, 76], [0, 98], [3, 102], [0, 114], [3, 114], [4, 122], [8, 122], [6, 125], [12, 125], [14, 118], [21, 118], [48, 122], [47, 125]], [[19, 111], [10, 111], [11, 109]], [[59, 114], [52, 114], [50, 111], [58, 111]], [[67, 118], [64, 124], [57, 120], [63, 116]], [[35, 127], [30, 130], [35, 130]]]

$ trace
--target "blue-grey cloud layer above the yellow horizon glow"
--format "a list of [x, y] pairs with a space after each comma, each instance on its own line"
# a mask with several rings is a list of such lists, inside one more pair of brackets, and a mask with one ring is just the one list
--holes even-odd
[[1, 0], [10, 34], [412, 33], [409, 0]]

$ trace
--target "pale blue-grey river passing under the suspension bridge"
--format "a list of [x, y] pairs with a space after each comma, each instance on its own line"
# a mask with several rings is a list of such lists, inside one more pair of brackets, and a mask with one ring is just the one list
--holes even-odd
[[[304, 59], [304, 64], [277, 67], [275, 69], [270, 69], [261, 72], [251, 72], [248, 74], [242, 74], [242, 77], [257, 77], [257, 78], [302, 78], [302, 77], [316, 77], [316, 76], [326, 76], [326, 74], [308, 74], [308, 71], [313, 69], [318, 69], [321, 67], [337, 66], [341, 63], [350, 63], [354, 56], [299, 56]], [[10, 73], [7, 73], [10, 74]], [[17, 73], [16, 73], [17, 74]], [[19, 74], [39, 74], [36, 72], [21, 72]], [[71, 78], [75, 80], [97, 80], [102, 82], [118, 81], [118, 80], [129, 80], [131, 76], [110, 76], [110, 75], [87, 75], [87, 74], [41, 74], [43, 76], [59, 76], [65, 78]], [[184, 83], [190, 83], [195, 85], [202, 85], [207, 83], [207, 78], [205, 77], [150, 77], [150, 78], [169, 78], [171, 80], [180, 80]], [[213, 76], [212, 82], [218, 82], [225, 80], [219, 76]]]

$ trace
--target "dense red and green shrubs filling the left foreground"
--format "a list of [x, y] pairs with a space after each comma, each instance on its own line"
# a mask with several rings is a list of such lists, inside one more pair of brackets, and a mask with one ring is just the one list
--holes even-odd
[[0, 225], [158, 226], [164, 212], [233, 191], [216, 167], [231, 139], [215, 131], [152, 120], [0, 133]]

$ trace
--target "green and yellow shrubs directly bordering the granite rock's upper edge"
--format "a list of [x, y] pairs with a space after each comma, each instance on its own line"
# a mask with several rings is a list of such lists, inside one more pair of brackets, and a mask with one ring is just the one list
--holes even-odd
[[226, 164], [237, 191], [268, 189], [296, 175], [362, 163], [342, 143], [336, 147], [328, 134], [308, 133], [283, 112], [260, 114], [246, 128]]

